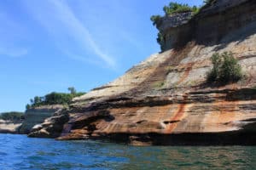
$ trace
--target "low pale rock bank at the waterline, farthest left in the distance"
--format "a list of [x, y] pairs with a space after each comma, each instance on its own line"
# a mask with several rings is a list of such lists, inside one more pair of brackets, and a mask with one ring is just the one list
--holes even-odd
[[22, 121], [4, 121], [0, 119], [0, 133], [18, 133]]

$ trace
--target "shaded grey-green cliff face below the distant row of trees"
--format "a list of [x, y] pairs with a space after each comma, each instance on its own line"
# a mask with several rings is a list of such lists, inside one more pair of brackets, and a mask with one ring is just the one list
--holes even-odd
[[53, 116], [56, 111], [61, 111], [62, 109], [63, 105], [45, 105], [27, 110], [25, 120], [19, 128], [19, 133], [30, 133], [32, 127], [44, 122], [46, 118]]

